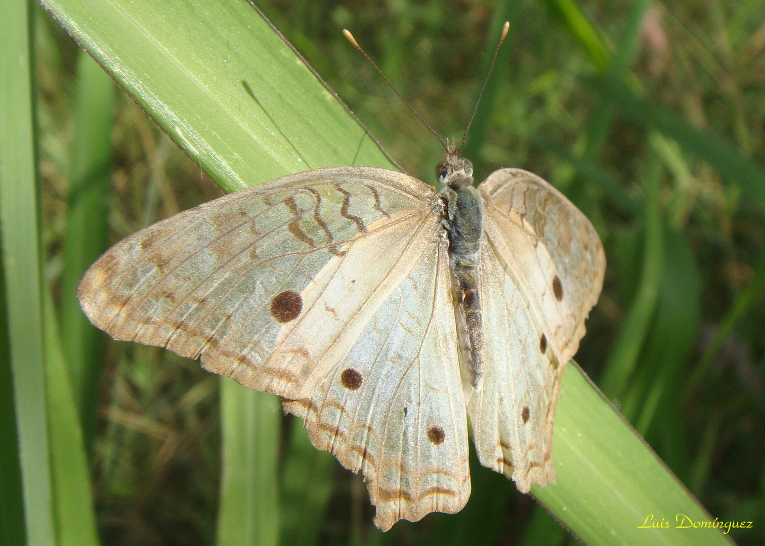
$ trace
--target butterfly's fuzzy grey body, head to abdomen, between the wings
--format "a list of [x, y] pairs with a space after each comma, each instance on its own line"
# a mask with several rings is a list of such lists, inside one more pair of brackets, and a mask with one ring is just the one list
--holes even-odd
[[460, 341], [463, 379], [477, 387], [483, 375], [485, 347], [478, 285], [478, 254], [483, 233], [483, 202], [473, 186], [473, 164], [451, 145], [436, 169], [444, 200], [444, 229]]

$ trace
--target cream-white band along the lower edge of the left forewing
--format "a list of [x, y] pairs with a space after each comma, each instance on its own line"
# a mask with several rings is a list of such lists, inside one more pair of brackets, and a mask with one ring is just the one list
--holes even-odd
[[[288, 398], [311, 396], [377, 307], [435, 243], [440, 228], [438, 207], [427, 215], [401, 210], [373, 223], [365, 236], [343, 247], [304, 288], [301, 314], [282, 327], [263, 365], [238, 367], [231, 376]], [[210, 353], [207, 362], [220, 359]]]

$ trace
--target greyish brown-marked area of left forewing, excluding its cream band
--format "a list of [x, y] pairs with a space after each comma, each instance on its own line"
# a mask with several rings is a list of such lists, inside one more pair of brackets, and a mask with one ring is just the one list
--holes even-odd
[[[325, 267], [354, 258], [356, 246], [395, 233], [400, 242], [386, 263], [399, 252], [405, 255], [399, 268], [355, 265], [373, 271], [368, 285], [392, 290], [396, 279], [386, 278], [405, 278], [422, 249], [408, 243], [438, 229], [440, 207], [431, 187], [395, 171], [334, 167], [295, 174], [123, 239], [86, 272], [77, 294], [93, 324], [116, 339], [164, 346], [250, 388], [298, 398], [311, 362], [286, 373], [265, 362], [282, 330], [311, 310], [303, 291]], [[376, 295], [369, 305], [379, 304]], [[369, 305], [353, 303], [350, 318], [369, 315]], [[334, 339], [344, 326], [327, 324], [324, 335]]]

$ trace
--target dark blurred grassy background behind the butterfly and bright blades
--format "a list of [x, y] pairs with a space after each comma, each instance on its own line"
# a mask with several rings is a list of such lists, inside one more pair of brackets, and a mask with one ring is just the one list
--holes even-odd
[[[465, 155], [478, 180], [522, 167], [589, 216], [608, 267], [577, 361], [713, 518], [754, 521], [731, 531], [738, 544], [765, 544], [765, 0], [256, 4], [392, 158], [431, 184], [441, 146], [340, 30], [440, 135], [460, 138], [511, 21]], [[85, 370], [73, 375], [85, 379], [70, 385], [80, 408], [70, 417], [82, 424], [99, 539], [222, 543], [219, 379], [162, 349], [106, 340], [71, 297], [109, 242], [221, 192], [56, 21], [31, 15], [44, 320], [57, 323], [60, 362]], [[63, 366], [46, 358], [50, 379]], [[475, 465], [464, 512], [382, 535], [360, 477], [307, 446], [299, 424], [281, 424], [262, 434], [278, 442], [282, 509], [269, 517], [283, 544], [575, 543]], [[306, 491], [309, 509], [295, 512]]]

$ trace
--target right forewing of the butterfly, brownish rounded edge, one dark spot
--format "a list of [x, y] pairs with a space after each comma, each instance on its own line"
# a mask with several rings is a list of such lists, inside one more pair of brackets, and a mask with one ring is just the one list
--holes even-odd
[[[478, 189], [488, 230], [506, 239], [506, 249], [516, 257], [509, 265], [552, 336], [549, 342], [567, 362], [601, 294], [606, 267], [601, 239], [587, 216], [528, 171], [494, 171]], [[518, 235], [521, 229], [528, 237]]]

